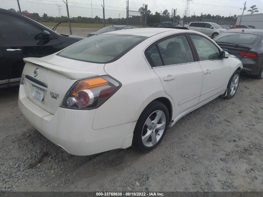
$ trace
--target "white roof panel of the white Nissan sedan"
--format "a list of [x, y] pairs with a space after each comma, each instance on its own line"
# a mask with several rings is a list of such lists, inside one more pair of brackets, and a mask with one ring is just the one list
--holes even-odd
[[146, 36], [151, 37], [153, 35], [166, 32], [166, 31], [174, 31], [178, 33], [189, 32], [190, 30], [183, 30], [183, 29], [173, 29], [173, 28], [134, 28], [134, 29], [124, 29], [124, 30], [117, 30], [117, 31], [110, 31], [104, 34], [126, 34], [126, 35], [139, 35], [139, 36]]

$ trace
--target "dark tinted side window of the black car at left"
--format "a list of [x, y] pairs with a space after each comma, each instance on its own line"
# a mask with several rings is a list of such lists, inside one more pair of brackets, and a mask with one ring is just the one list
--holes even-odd
[[[42, 36], [39, 36], [40, 34]], [[0, 14], [1, 40], [39, 40], [39, 38], [43, 38], [42, 29], [15, 16]]]

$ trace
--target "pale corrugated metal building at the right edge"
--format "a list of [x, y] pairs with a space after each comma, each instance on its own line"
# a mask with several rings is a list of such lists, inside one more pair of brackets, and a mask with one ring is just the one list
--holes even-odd
[[[241, 17], [241, 15], [237, 16], [237, 23], [236, 23], [236, 25], [239, 25], [240, 17]], [[263, 13], [259, 13], [259, 14], [244, 14], [244, 15], [242, 15], [240, 24], [241, 25], [253, 25], [257, 29], [263, 29]]]

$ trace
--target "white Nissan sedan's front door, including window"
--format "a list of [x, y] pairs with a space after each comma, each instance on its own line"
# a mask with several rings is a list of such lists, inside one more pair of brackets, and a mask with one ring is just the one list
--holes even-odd
[[226, 58], [220, 58], [221, 50], [208, 38], [197, 34], [190, 34], [190, 38], [203, 70], [203, 87], [199, 101], [202, 103], [226, 90], [230, 65]]

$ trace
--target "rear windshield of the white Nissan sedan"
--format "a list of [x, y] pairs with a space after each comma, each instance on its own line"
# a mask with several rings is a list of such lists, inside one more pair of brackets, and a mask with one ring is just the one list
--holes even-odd
[[99, 34], [77, 42], [57, 55], [92, 63], [109, 63], [119, 59], [148, 37], [125, 34]]

